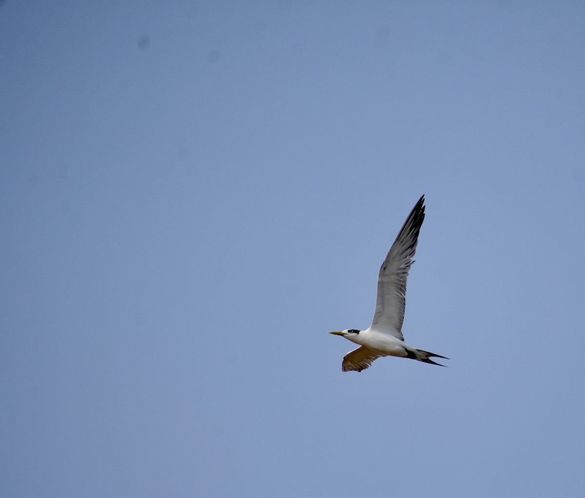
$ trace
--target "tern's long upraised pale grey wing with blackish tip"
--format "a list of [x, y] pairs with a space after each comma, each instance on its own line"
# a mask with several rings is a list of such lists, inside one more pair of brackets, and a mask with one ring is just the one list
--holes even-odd
[[393, 335], [404, 341], [402, 321], [408, 271], [417, 249], [418, 233], [425, 219], [425, 196], [417, 202], [404, 222], [394, 244], [382, 263], [378, 274], [376, 311], [370, 327], [378, 332]]

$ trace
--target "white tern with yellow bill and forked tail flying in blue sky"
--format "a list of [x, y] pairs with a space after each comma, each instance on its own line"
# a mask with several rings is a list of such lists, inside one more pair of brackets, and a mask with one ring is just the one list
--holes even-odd
[[350, 351], [343, 357], [343, 372], [349, 370], [361, 372], [382, 356], [411, 358], [439, 366], [445, 365], [433, 362], [431, 358], [449, 359], [409, 346], [404, 342], [402, 335], [406, 280], [410, 267], [414, 263], [412, 256], [417, 249], [418, 233], [421, 231], [424, 219], [425, 196], [423, 195], [412, 208], [380, 268], [376, 311], [370, 328], [367, 330], [352, 328], [329, 332], [329, 334], [340, 335], [360, 345], [359, 348]]

